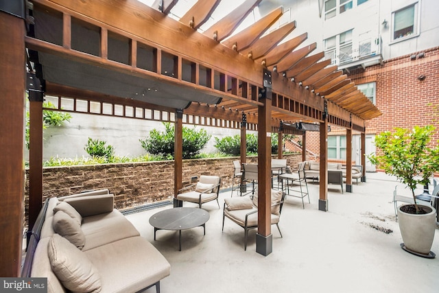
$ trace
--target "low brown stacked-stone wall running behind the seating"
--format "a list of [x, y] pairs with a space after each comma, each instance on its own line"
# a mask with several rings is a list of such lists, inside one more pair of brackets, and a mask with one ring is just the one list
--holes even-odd
[[[301, 160], [302, 155], [287, 154], [284, 158], [287, 159], [287, 165], [294, 167]], [[222, 179], [221, 188], [230, 188], [235, 160], [239, 160], [239, 157], [183, 160], [183, 186], [191, 183], [191, 176], [219, 175]], [[257, 157], [248, 157], [247, 163], [257, 163]], [[26, 170], [25, 184], [25, 216], [27, 218], [29, 169]], [[67, 196], [91, 189], [109, 189], [110, 193], [115, 195], [115, 208], [117, 209], [171, 200], [174, 196], [174, 161], [45, 167], [43, 169], [43, 201], [46, 198]]]

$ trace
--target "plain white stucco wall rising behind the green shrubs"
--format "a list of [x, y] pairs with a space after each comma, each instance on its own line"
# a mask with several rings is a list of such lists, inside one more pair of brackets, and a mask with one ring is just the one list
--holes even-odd
[[[121, 117], [109, 117], [99, 115], [86, 115], [71, 113], [71, 121], [64, 126], [50, 126], [44, 130], [43, 161], [51, 157], [71, 158], [88, 157], [84, 150], [88, 137], [106, 141], [115, 148], [117, 156], [140, 156], [146, 151], [141, 147], [139, 139], [145, 139], [152, 129], [164, 131], [161, 122], [147, 121], [142, 119], [130, 119]], [[193, 125], [184, 125], [193, 128]], [[195, 129], [200, 129], [196, 126]], [[228, 128], [204, 127], [212, 135], [211, 139], [202, 152], [217, 152], [213, 146], [213, 137], [225, 137], [239, 134], [239, 130]], [[29, 159], [29, 152], [25, 150], [25, 159]]]

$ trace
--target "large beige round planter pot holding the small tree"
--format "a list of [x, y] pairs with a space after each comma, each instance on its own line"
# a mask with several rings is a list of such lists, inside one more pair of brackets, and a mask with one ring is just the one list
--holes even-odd
[[405, 213], [398, 209], [398, 222], [403, 244], [401, 247], [409, 253], [420, 257], [434, 258], [436, 255], [430, 251], [433, 245], [436, 230], [436, 209], [419, 205], [430, 211], [423, 215]]

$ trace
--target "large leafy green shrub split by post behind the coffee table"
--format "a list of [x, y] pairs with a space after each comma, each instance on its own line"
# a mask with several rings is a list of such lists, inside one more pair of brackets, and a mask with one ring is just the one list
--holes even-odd
[[[150, 154], [163, 156], [166, 159], [172, 160], [174, 159], [174, 124], [163, 123], [163, 125], [165, 125], [165, 132], [154, 129], [150, 132], [149, 137], [139, 139], [139, 141], [142, 148]], [[197, 131], [195, 130], [195, 126], [193, 128], [183, 127], [183, 159], [191, 159], [200, 154], [200, 151], [204, 148], [209, 139], [211, 139], [211, 135], [207, 134], [204, 129]]]

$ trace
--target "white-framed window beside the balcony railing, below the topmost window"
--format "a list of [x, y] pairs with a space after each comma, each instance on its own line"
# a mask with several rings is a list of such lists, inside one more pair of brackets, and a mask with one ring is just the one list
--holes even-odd
[[332, 64], [342, 64], [352, 60], [352, 30], [331, 36], [324, 40], [324, 58]]

